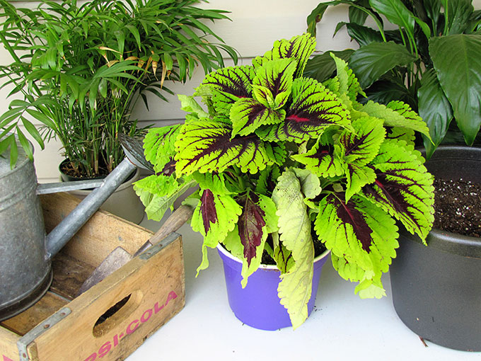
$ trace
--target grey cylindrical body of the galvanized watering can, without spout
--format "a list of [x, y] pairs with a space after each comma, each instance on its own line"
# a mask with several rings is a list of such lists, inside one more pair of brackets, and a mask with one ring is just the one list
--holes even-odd
[[36, 188], [30, 159], [22, 157], [13, 170], [0, 159], [0, 319], [34, 304], [52, 281]]

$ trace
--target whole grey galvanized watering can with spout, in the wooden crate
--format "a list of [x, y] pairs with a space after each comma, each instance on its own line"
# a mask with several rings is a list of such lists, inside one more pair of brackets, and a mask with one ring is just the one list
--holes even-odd
[[[0, 321], [27, 309], [47, 292], [52, 257], [136, 168], [125, 158], [100, 181], [37, 185], [33, 162], [22, 147], [18, 153], [13, 169], [9, 157], [0, 156]], [[37, 195], [82, 188], [95, 190], [45, 235]]]

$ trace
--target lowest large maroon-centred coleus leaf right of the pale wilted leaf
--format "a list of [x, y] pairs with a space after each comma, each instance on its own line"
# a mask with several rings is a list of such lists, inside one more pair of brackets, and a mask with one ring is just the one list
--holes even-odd
[[[342, 277], [364, 282], [369, 287], [380, 282], [388, 271], [398, 247], [398, 227], [381, 207], [372, 207], [363, 197], [354, 195], [345, 202], [342, 193], [331, 193], [320, 201], [314, 229], [320, 241], [332, 251], [333, 265]], [[361, 270], [359, 270], [361, 269]], [[361, 277], [362, 275], [362, 277]], [[358, 289], [359, 290], [359, 289]]]

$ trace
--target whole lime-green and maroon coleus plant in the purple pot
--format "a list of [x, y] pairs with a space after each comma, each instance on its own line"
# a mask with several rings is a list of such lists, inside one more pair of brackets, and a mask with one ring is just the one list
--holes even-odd
[[434, 219], [432, 177], [414, 148], [415, 131], [429, 137], [425, 123], [400, 101], [358, 103], [364, 93], [342, 59], [324, 84], [303, 77], [314, 48], [310, 35], [279, 40], [252, 65], [214, 71], [194, 96], [179, 96], [185, 124], [150, 130], [156, 174], [135, 184], [156, 220], [198, 184], [185, 200], [204, 236], [197, 272], [207, 247], [222, 243], [242, 260], [245, 286], [268, 253], [294, 328], [308, 314], [312, 229], [360, 297], [381, 297], [396, 221], [424, 240]]

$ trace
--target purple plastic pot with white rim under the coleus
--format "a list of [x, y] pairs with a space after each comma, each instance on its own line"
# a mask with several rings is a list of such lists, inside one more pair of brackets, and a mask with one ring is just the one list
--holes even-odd
[[[217, 251], [224, 263], [226, 275], [227, 297], [236, 317], [246, 325], [261, 330], [278, 330], [291, 326], [287, 310], [282, 306], [277, 296], [280, 271], [275, 265], [260, 265], [255, 273], [250, 275], [247, 286], [242, 288], [242, 262], [228, 253], [219, 244]], [[325, 251], [314, 259], [314, 275], [311, 299], [307, 304], [308, 314], [314, 309], [315, 294], [318, 292], [320, 271], [328, 259], [329, 251]]]

